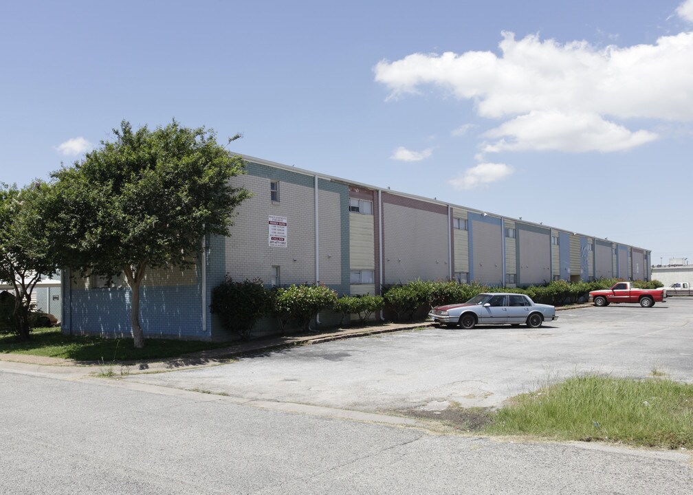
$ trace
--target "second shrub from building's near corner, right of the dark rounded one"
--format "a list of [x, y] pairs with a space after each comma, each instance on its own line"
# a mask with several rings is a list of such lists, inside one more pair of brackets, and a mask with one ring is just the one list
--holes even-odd
[[310, 320], [324, 309], [331, 308], [337, 302], [337, 293], [322, 284], [292, 284], [288, 288], [279, 288], [274, 293], [274, 313], [277, 314], [281, 332], [290, 320], [299, 327], [308, 330]]

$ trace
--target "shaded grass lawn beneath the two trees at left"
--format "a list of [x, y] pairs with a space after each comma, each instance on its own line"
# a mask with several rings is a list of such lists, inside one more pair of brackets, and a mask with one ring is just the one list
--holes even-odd
[[13, 335], [0, 335], [0, 353], [30, 354], [75, 361], [137, 361], [175, 358], [188, 352], [228, 347], [228, 343], [146, 338], [143, 349], [132, 347], [132, 338], [107, 339], [94, 336], [67, 336], [60, 328], [34, 329], [28, 342]]

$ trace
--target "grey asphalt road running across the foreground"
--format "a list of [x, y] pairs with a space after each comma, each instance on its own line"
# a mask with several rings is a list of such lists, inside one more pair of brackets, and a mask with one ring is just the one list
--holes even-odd
[[0, 371], [2, 494], [688, 494], [684, 453], [434, 435]]

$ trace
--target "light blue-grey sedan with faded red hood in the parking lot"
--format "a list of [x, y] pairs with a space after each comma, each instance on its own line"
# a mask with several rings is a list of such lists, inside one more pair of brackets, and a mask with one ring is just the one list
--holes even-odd
[[493, 293], [475, 295], [462, 304], [447, 304], [436, 306], [428, 316], [434, 322], [449, 327], [473, 329], [475, 325], [518, 326], [538, 328], [543, 322], [552, 322], [556, 316], [556, 308], [550, 304], [536, 304], [524, 294]]

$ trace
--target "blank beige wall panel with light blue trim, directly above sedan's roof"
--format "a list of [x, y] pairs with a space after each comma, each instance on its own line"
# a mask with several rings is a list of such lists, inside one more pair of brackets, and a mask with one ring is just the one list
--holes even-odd
[[473, 275], [482, 284], [504, 284], [500, 225], [472, 221]]

